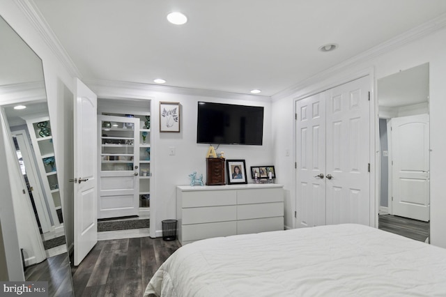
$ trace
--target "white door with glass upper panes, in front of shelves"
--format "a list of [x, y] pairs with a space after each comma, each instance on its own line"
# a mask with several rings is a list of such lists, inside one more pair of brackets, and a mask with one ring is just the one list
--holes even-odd
[[99, 218], [139, 213], [139, 119], [98, 116]]

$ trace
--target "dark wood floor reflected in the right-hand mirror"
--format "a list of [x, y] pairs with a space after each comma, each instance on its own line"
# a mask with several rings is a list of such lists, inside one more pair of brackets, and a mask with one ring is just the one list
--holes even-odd
[[378, 229], [416, 241], [426, 241], [426, 238], [429, 237], [429, 222], [402, 218], [397, 215], [379, 215]]

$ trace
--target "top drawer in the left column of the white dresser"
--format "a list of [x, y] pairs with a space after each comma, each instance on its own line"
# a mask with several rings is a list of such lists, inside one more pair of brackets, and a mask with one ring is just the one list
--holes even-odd
[[183, 208], [236, 205], [236, 190], [188, 191], [181, 195]]

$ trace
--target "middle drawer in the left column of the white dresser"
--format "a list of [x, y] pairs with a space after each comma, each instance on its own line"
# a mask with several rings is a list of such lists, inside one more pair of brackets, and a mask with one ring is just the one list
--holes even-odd
[[183, 208], [183, 224], [237, 220], [235, 205]]

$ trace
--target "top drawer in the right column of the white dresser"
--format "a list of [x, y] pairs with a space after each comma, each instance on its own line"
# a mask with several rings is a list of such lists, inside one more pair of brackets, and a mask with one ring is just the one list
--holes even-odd
[[237, 204], [254, 204], [284, 201], [282, 188], [260, 188], [237, 191]]

